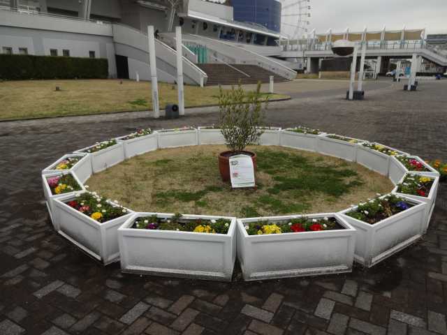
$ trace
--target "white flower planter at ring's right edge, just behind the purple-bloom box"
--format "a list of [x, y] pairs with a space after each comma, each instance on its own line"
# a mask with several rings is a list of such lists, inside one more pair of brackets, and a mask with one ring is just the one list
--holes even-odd
[[436, 202], [436, 195], [439, 187], [439, 177], [431, 177], [426, 174], [411, 174], [407, 173], [400, 179], [400, 182], [393, 190], [397, 195], [405, 196], [406, 198], [415, 199], [420, 202], [425, 202], [425, 228], [427, 231], [430, 224], [430, 218]]

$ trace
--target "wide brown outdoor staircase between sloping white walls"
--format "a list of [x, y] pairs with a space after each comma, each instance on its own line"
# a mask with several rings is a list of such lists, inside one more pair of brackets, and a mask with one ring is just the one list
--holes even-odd
[[257, 84], [258, 82], [269, 82], [270, 75], [274, 77], [274, 82], [287, 82], [288, 79], [276, 75], [269, 70], [265, 70], [256, 65], [245, 64], [196, 64], [208, 76], [207, 86], [212, 85], [235, 85]]

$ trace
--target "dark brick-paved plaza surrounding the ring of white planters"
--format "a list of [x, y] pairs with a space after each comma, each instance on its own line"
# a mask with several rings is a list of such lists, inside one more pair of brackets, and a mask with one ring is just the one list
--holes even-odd
[[[295, 94], [270, 105], [272, 125], [302, 124], [376, 140], [423, 158], [447, 158], [447, 80], [416, 92], [367, 84]], [[368, 91], [368, 88], [374, 91]], [[149, 92], [148, 92], [149, 93]], [[3, 106], [4, 107], [4, 106]], [[191, 112], [191, 111], [189, 111]], [[206, 125], [147, 113], [0, 123], [0, 334], [447, 334], [447, 190], [423, 240], [351, 274], [231, 283], [122, 274], [54, 232], [40, 172], [57, 158], [136, 127]], [[145, 117], [145, 118], [143, 118]]]

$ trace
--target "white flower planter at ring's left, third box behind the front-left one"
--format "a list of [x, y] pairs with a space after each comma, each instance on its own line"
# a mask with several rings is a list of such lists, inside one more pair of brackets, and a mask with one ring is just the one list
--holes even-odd
[[91, 169], [94, 173], [101, 172], [124, 161], [123, 144], [118, 143], [115, 139], [98, 142], [91, 147], [75, 151], [75, 153], [79, 152], [89, 154]]

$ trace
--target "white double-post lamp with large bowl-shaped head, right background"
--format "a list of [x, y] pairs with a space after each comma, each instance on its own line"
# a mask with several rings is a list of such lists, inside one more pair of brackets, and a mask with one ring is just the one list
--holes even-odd
[[[354, 91], [354, 82], [356, 81], [357, 54], [360, 46], [362, 47], [361, 60], [360, 60], [361, 68], [358, 77], [358, 88], [357, 91]], [[346, 99], [363, 100], [363, 97], [365, 96], [365, 91], [362, 91], [362, 83], [363, 83], [362, 67], [365, 65], [366, 42], [362, 41], [361, 43], [356, 44], [351, 40], [336, 40], [335, 43], [332, 44], [332, 52], [342, 57], [347, 57], [352, 54], [351, 77], [349, 80], [349, 91], [346, 94]]]

